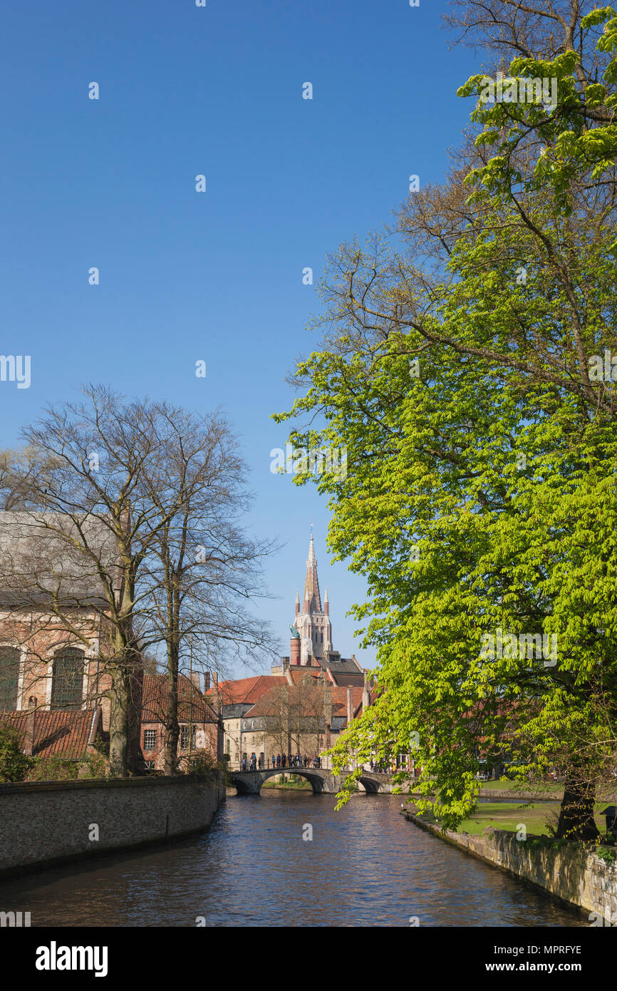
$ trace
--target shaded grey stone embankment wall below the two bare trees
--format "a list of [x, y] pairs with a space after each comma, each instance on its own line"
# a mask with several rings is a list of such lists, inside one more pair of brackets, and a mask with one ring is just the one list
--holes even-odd
[[0, 785], [0, 874], [196, 832], [224, 801], [196, 775]]

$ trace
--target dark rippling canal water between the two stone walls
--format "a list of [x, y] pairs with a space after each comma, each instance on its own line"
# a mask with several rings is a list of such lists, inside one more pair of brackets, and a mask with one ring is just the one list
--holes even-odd
[[5, 881], [0, 910], [30, 912], [33, 927], [588, 926], [406, 822], [397, 796], [335, 805], [229, 798], [196, 837]]

